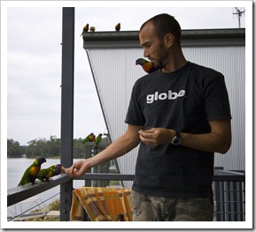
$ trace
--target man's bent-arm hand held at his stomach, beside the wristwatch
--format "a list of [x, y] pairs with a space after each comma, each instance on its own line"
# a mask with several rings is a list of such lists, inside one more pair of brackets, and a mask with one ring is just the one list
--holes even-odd
[[175, 137], [175, 131], [166, 128], [151, 128], [150, 130], [140, 130], [140, 139], [146, 145], [158, 146], [167, 143]]

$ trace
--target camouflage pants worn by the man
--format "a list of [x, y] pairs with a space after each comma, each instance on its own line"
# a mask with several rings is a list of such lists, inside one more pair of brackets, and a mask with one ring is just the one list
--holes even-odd
[[156, 198], [131, 192], [133, 221], [213, 221], [213, 198]]

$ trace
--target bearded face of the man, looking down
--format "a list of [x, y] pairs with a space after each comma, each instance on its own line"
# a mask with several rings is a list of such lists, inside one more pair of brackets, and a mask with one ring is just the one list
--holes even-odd
[[139, 39], [144, 48], [144, 57], [148, 57], [155, 68], [164, 68], [169, 62], [168, 50], [163, 41], [160, 41], [156, 36], [151, 22], [143, 27], [139, 34]]

